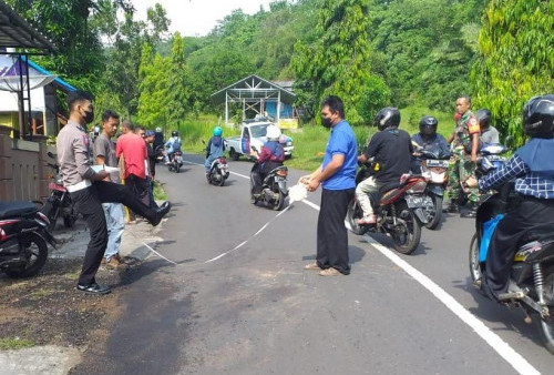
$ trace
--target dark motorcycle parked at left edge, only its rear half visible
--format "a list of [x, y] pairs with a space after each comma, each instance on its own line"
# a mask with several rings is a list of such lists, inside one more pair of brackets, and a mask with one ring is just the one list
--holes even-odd
[[33, 202], [0, 202], [0, 271], [11, 277], [34, 276], [57, 241], [48, 217]]

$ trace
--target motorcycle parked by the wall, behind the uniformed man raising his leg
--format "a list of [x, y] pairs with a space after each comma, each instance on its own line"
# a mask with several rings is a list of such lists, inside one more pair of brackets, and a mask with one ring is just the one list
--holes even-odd
[[[51, 152], [48, 152], [48, 155], [55, 160], [55, 155]], [[60, 166], [58, 164], [47, 164], [55, 171], [55, 175], [50, 176], [53, 181], [48, 184], [50, 196], [41, 209], [41, 212], [47, 215], [49, 220], [48, 229], [52, 232], [60, 216], [63, 217], [63, 225], [65, 225], [65, 227], [72, 227], [79, 215], [73, 207], [70, 193], [63, 186]]]

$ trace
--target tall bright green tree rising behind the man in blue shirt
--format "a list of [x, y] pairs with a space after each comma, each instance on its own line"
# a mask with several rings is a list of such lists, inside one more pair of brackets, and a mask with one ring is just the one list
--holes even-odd
[[357, 107], [369, 81], [368, 1], [322, 0], [317, 39], [310, 43], [297, 42], [293, 67], [298, 88], [311, 91], [308, 105], [314, 113], [319, 102], [329, 94], [340, 97], [351, 123], [363, 119]]

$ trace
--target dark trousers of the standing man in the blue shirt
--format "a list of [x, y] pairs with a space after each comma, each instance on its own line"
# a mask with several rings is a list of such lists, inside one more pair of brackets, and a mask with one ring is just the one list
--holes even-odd
[[317, 222], [317, 264], [321, 268], [334, 267], [348, 275], [348, 232], [345, 219], [353, 189], [322, 190], [321, 209]]

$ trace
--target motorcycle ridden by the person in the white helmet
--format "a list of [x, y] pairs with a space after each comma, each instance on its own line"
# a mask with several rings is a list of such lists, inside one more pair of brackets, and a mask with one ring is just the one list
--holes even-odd
[[[252, 146], [255, 152], [258, 150]], [[259, 164], [256, 161], [250, 170], [250, 202], [253, 204], [263, 201], [267, 205], [270, 205], [275, 211], [283, 210], [285, 205], [285, 199], [288, 195], [288, 169], [285, 165], [277, 166], [267, 173], [266, 178], [261, 183], [261, 193], [255, 194], [255, 173], [258, 173]]]

